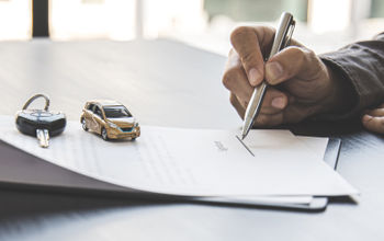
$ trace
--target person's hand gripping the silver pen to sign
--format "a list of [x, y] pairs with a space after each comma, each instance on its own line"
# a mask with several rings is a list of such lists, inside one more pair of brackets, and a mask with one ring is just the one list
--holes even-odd
[[223, 84], [230, 103], [244, 118], [253, 89], [263, 79], [270, 84], [255, 126], [297, 123], [337, 111], [342, 87], [314, 51], [294, 39], [267, 62], [275, 31], [267, 26], [241, 26], [230, 36], [233, 49], [225, 67]]

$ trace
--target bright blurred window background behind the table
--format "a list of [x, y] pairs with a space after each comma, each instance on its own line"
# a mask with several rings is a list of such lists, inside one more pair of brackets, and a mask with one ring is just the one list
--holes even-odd
[[318, 54], [384, 31], [383, 0], [0, 0], [0, 41], [161, 37], [227, 55], [236, 26], [275, 26], [282, 11]]

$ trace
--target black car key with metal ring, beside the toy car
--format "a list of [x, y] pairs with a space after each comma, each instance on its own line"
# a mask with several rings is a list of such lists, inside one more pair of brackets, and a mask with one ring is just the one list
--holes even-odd
[[[38, 97], [45, 99], [44, 110], [29, 110], [29, 105]], [[44, 94], [32, 96], [16, 113], [16, 128], [25, 135], [37, 137], [39, 146], [49, 146], [49, 136], [61, 134], [66, 127], [66, 115], [61, 112], [49, 112], [49, 97]]]

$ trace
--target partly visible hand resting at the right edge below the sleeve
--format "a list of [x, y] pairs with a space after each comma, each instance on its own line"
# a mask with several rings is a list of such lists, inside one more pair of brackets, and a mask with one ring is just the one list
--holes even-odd
[[361, 119], [363, 126], [379, 134], [384, 134], [384, 104], [377, 108], [366, 111]]

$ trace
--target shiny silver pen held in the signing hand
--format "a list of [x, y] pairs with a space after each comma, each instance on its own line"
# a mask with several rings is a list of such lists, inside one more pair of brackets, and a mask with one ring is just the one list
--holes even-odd
[[[270, 51], [268, 59], [278, 54], [281, 49], [290, 44], [290, 39], [295, 27], [295, 21], [293, 15], [287, 12], [283, 12], [280, 18], [279, 27], [274, 35], [273, 45]], [[268, 60], [266, 59], [266, 61]], [[246, 138], [250, 128], [253, 126], [255, 119], [257, 118], [262, 100], [266, 95], [268, 89], [268, 83], [266, 80], [262, 83], [255, 88], [252, 96], [250, 97], [249, 104], [246, 110], [246, 115], [244, 118], [242, 134], [241, 139]]]

